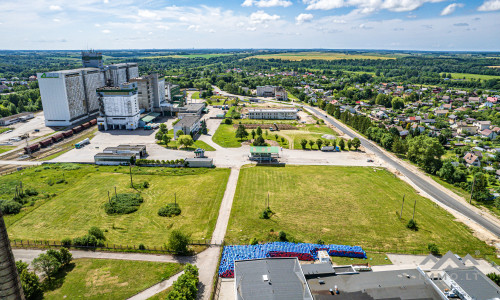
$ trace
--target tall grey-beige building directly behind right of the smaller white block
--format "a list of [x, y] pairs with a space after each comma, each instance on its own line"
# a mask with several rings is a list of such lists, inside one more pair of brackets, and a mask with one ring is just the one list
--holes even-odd
[[165, 102], [165, 78], [158, 74], [151, 74], [130, 79], [137, 82], [139, 109], [141, 111], [158, 111], [161, 103]]

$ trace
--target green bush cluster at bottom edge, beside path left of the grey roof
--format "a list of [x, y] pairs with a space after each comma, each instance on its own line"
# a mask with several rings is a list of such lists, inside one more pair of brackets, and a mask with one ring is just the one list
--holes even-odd
[[187, 264], [184, 268], [184, 274], [172, 285], [172, 291], [168, 293], [167, 299], [185, 299], [195, 300], [198, 295], [198, 268]]

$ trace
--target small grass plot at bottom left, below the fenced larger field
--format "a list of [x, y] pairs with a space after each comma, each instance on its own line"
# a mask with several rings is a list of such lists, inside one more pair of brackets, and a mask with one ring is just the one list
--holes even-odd
[[[76, 259], [44, 299], [127, 299], [182, 271], [176, 263]], [[140, 275], [140, 276], [139, 276]]]

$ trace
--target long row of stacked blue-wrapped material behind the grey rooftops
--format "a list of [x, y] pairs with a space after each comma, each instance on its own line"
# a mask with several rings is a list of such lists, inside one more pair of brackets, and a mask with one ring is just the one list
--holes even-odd
[[225, 246], [219, 266], [219, 276], [234, 277], [234, 261], [258, 259], [266, 257], [297, 257], [299, 260], [312, 261], [318, 259], [318, 251], [327, 251], [330, 256], [366, 258], [366, 253], [359, 246], [295, 244], [274, 242], [261, 245]]

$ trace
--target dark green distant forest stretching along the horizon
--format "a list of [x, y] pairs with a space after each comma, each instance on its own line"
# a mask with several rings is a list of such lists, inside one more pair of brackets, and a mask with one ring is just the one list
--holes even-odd
[[[241, 68], [247, 72], [311, 71], [320, 74], [342, 74], [356, 72], [353, 80], [400, 82], [410, 84], [442, 85], [466, 89], [500, 90], [497, 78], [448, 80], [443, 73], [467, 73], [500, 76], [500, 53], [463, 52], [410, 52], [410, 51], [361, 51], [361, 50], [315, 50], [344, 54], [366, 54], [394, 56], [395, 59], [338, 59], [288, 61], [280, 59], [249, 58], [259, 54], [283, 52], [304, 52], [307, 50], [104, 50], [107, 64], [137, 62], [141, 74], [157, 72], [161, 75], [184, 75], [173, 81], [182, 87], [204, 88], [207, 83], [231, 84], [228, 89], [237, 91], [237, 83], [250, 86], [265, 84], [266, 80], [230, 78], [225, 70]], [[80, 51], [0, 51], [0, 78], [28, 78], [37, 72], [63, 70], [81, 67]], [[370, 76], [359, 76], [366, 72]], [[236, 76], [236, 75], [235, 75]], [[238, 75], [241, 77], [241, 75]], [[215, 77], [215, 78], [214, 78]], [[286, 82], [285, 82], [286, 83]], [[289, 84], [295, 84], [290, 81]], [[341, 86], [335, 87], [341, 88]], [[41, 109], [37, 86], [15, 87], [15, 93], [0, 95], [0, 115], [6, 116], [25, 110]]]

